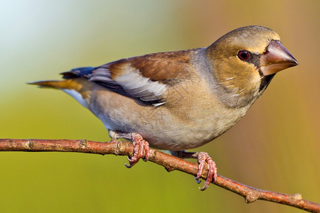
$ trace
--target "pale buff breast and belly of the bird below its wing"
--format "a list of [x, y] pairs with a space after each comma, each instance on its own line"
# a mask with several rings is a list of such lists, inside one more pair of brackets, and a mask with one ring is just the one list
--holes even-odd
[[153, 107], [97, 85], [92, 89], [89, 109], [106, 129], [140, 133], [150, 146], [174, 151], [212, 141], [247, 111], [228, 109], [218, 99], [205, 97], [208, 94], [196, 89], [188, 91], [176, 91], [178, 96]]

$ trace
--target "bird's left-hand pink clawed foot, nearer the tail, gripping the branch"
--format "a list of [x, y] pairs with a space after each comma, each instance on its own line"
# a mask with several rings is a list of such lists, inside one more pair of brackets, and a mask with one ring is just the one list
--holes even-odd
[[131, 133], [131, 138], [133, 146], [134, 146], [134, 154], [131, 158], [128, 157], [129, 165], [124, 164], [127, 168], [132, 168], [136, 163], [138, 163], [139, 159], [142, 158], [144, 161], [149, 159], [149, 143], [144, 141], [144, 138], [139, 133]]

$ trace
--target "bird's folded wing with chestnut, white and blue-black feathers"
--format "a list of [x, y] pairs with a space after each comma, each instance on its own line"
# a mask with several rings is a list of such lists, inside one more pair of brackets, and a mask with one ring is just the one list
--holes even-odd
[[164, 104], [164, 94], [190, 70], [188, 51], [154, 53], [126, 58], [100, 67], [80, 67], [63, 72], [63, 78], [86, 77], [107, 89], [146, 104]]

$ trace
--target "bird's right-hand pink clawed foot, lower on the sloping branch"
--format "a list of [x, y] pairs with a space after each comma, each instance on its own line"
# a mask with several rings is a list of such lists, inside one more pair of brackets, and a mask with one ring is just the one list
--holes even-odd
[[203, 190], [206, 190], [206, 188], [210, 185], [210, 182], [215, 182], [215, 180], [217, 179], [217, 175], [218, 175], [217, 166], [215, 165], [215, 162], [212, 160], [212, 158], [210, 158], [208, 153], [199, 152], [199, 153], [195, 153], [193, 156], [198, 159], [198, 164], [199, 164], [198, 173], [195, 178], [196, 182], [198, 183], [201, 182], [200, 178], [201, 178], [203, 168], [206, 163], [208, 164], [208, 175], [207, 175], [205, 185], [202, 188], [199, 187], [199, 189], [203, 191]]

